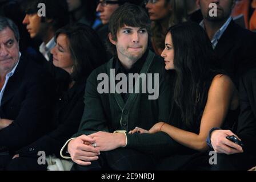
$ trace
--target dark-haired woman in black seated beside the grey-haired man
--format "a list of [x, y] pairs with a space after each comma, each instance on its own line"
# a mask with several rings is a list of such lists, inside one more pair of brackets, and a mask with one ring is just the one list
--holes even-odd
[[[55, 34], [56, 46], [51, 50], [53, 64], [69, 73], [66, 86], [59, 87], [51, 131], [27, 147], [7, 166], [7, 170], [46, 170], [47, 164], [38, 164], [38, 152], [44, 152], [47, 163], [59, 157], [59, 151], [78, 130], [83, 114], [83, 95], [86, 78], [106, 62], [106, 52], [98, 35], [88, 26], [75, 24], [59, 29]], [[100, 53], [99, 53], [100, 52]]]

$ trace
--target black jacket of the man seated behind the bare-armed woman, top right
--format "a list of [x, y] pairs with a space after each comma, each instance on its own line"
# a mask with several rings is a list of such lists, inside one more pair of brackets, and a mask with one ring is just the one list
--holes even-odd
[[214, 51], [218, 67], [238, 85], [239, 76], [256, 65], [256, 34], [231, 20]]

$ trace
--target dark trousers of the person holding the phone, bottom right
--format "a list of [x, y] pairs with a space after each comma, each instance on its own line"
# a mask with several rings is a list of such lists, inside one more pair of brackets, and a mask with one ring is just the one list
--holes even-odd
[[211, 170], [213, 171], [246, 171], [256, 166], [256, 155], [252, 154], [218, 154], [217, 165], [213, 165]]

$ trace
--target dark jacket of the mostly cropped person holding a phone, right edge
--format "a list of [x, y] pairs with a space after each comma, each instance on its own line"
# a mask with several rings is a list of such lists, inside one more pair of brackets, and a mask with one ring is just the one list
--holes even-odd
[[241, 113], [237, 135], [245, 144], [245, 151], [256, 155], [256, 68], [251, 69], [241, 78], [239, 95]]

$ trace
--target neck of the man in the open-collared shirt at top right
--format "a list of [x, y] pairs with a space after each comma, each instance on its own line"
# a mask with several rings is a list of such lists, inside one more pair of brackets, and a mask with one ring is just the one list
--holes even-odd
[[223, 24], [225, 24], [227, 19], [225, 19], [223, 21], [219, 21], [219, 22], [213, 22], [213, 21], [209, 21], [207, 19], [203, 19], [203, 24], [205, 26], [205, 31], [206, 31], [210, 40], [213, 39], [214, 34], [223, 26]]

